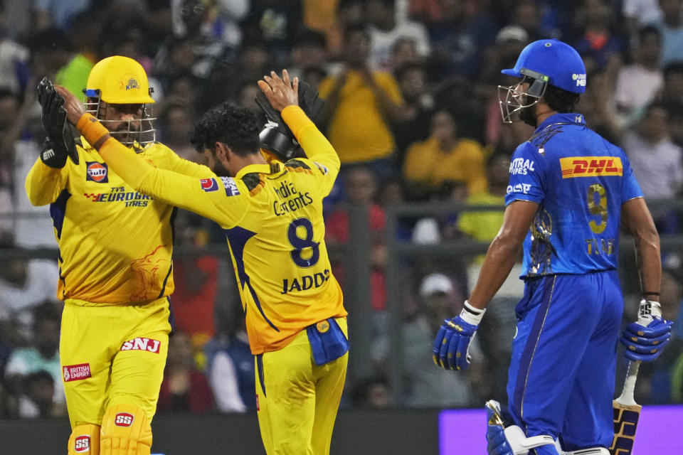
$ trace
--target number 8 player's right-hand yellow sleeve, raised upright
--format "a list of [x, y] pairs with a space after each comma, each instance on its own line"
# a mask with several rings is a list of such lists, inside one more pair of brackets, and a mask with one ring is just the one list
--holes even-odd
[[322, 182], [319, 187], [320, 193], [327, 196], [339, 174], [340, 162], [337, 151], [300, 107], [285, 107], [282, 109], [282, 119], [294, 133], [308, 159], [317, 168]]

